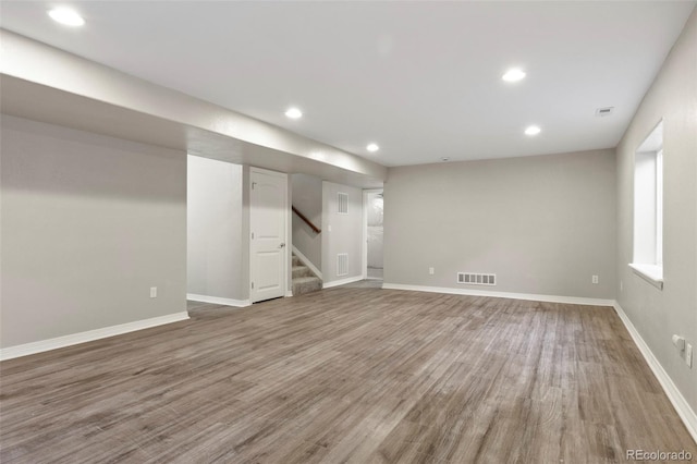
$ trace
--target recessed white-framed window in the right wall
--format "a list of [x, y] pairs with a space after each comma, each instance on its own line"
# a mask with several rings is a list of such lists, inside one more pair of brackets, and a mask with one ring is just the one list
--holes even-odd
[[634, 271], [663, 288], [663, 121], [634, 158]]

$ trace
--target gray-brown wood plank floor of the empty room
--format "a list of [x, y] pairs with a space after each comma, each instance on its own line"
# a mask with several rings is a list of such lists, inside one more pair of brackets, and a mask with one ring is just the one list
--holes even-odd
[[7, 463], [603, 463], [697, 445], [611, 308], [337, 288], [0, 364]]

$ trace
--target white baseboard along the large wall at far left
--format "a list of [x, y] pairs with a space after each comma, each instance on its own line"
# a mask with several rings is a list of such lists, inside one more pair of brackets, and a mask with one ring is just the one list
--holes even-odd
[[150, 327], [163, 326], [166, 323], [179, 322], [188, 319], [188, 313], [174, 313], [167, 316], [152, 317], [150, 319], [136, 320], [134, 322], [120, 323], [118, 326], [103, 327], [101, 329], [88, 330], [86, 332], [72, 333], [70, 335], [57, 337], [54, 339], [40, 340], [38, 342], [25, 343], [22, 345], [9, 346], [0, 350], [0, 361], [12, 359], [30, 354], [42, 353], [50, 350], [58, 350], [80, 343], [91, 342], [123, 333], [135, 332], [136, 330], [148, 329]]

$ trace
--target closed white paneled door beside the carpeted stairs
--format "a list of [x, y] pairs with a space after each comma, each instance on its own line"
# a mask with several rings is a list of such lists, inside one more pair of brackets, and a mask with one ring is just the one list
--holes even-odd
[[285, 296], [288, 280], [288, 174], [250, 169], [250, 300]]

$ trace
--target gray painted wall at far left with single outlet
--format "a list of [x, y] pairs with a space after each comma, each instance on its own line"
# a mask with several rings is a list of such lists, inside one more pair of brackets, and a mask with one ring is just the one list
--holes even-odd
[[185, 312], [186, 154], [1, 126], [0, 346]]

